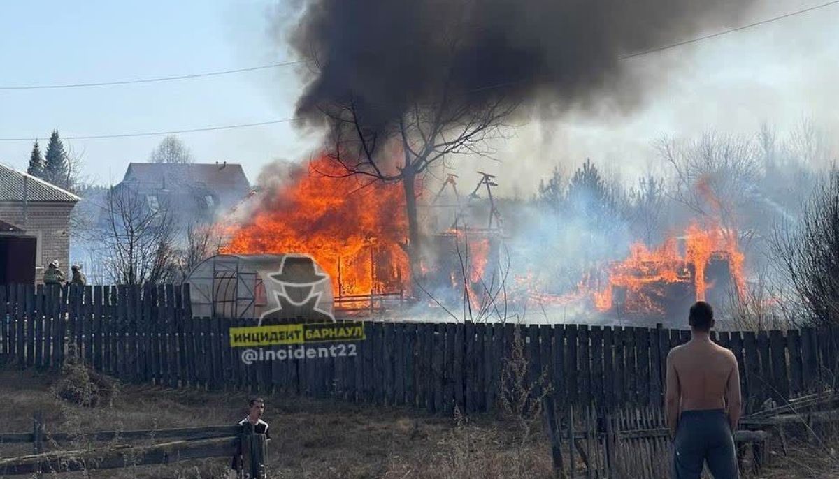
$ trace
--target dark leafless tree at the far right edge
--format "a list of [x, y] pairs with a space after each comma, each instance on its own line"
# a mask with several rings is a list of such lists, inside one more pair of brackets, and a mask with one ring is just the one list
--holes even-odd
[[839, 170], [806, 205], [798, 227], [775, 231], [774, 256], [811, 324], [839, 324]]

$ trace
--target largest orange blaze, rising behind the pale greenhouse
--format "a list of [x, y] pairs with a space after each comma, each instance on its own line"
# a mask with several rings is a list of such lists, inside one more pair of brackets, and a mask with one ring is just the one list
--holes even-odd
[[233, 226], [223, 253], [305, 253], [332, 277], [336, 296], [406, 291], [407, 219], [398, 183], [341, 177], [328, 157], [300, 167], [266, 193], [246, 224]]

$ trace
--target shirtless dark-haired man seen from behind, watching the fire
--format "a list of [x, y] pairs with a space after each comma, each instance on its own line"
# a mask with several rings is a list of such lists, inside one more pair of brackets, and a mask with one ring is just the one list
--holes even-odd
[[697, 301], [690, 306], [688, 322], [690, 341], [667, 355], [664, 411], [674, 440], [674, 475], [699, 479], [707, 461], [715, 479], [737, 478], [733, 438], [741, 404], [737, 359], [711, 342], [711, 305]]

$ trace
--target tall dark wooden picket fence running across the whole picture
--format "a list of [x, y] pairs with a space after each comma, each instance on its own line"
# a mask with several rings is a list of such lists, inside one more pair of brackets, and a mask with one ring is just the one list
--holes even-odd
[[[229, 328], [253, 321], [197, 318], [187, 286], [0, 286], [0, 360], [58, 368], [76, 354], [124, 382], [303, 394], [409, 405], [451, 415], [494, 409], [514, 351], [533, 394], [560, 406], [659, 406], [664, 364], [690, 332], [664, 328], [502, 323], [365, 322], [355, 356], [243, 363]], [[719, 332], [754, 404], [832, 387], [839, 328]], [[329, 344], [313, 346], [328, 348]]]

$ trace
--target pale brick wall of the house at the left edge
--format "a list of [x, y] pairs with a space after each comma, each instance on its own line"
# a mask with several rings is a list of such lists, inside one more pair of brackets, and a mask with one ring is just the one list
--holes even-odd
[[61, 270], [70, 275], [70, 211], [74, 203], [29, 203], [26, 219], [23, 203], [0, 203], [0, 219], [26, 231], [26, 236], [39, 236], [40, 256], [35, 258], [35, 282], [41, 283], [44, 268], [51, 260], [59, 260]]

